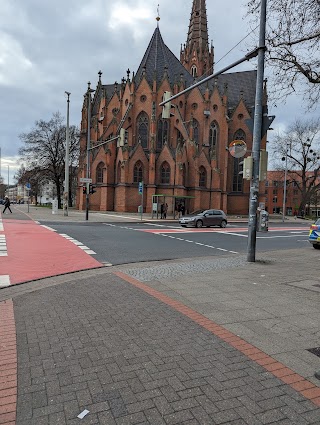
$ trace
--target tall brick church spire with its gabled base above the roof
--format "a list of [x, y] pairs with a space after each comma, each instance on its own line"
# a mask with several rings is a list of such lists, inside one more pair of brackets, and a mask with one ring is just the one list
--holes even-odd
[[194, 76], [213, 73], [213, 46], [209, 48], [206, 0], [193, 0], [187, 42], [180, 62]]

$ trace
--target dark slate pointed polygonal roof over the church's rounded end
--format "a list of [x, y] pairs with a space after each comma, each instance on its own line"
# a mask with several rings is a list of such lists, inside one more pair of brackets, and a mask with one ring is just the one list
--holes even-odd
[[145, 72], [145, 77], [150, 85], [152, 85], [155, 73], [157, 83], [160, 83], [165, 71], [168, 74], [171, 85], [175, 80], [178, 81], [180, 79], [180, 74], [183, 74], [183, 79], [186, 81], [187, 86], [190, 86], [194, 81], [192, 75], [189, 74], [179, 59], [165, 45], [157, 26], [140, 63], [135, 81], [139, 84]]

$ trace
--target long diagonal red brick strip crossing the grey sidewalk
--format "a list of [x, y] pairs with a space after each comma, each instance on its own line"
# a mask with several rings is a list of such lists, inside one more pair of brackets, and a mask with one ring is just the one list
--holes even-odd
[[212, 332], [214, 335], [227, 342], [241, 353], [245, 354], [249, 359], [255, 361], [268, 372], [272, 373], [275, 377], [279, 378], [282, 382], [290, 385], [290, 387], [302, 394], [308, 400], [311, 400], [316, 406], [320, 407], [320, 388], [315, 386], [307, 379], [298, 375], [293, 370], [289, 369], [271, 356], [265, 354], [255, 346], [239, 338], [237, 335], [228, 331], [223, 326], [212, 322], [210, 319], [206, 318], [190, 307], [185, 306], [181, 302], [173, 300], [167, 295], [164, 295], [161, 292], [150, 288], [149, 286], [131, 276], [126, 275], [125, 273], [114, 272], [114, 274], [189, 317], [197, 324]]

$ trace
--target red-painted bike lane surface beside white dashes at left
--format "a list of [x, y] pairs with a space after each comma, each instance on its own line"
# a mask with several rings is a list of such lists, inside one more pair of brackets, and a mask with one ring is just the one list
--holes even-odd
[[7, 256], [0, 257], [0, 275], [10, 284], [103, 267], [56, 232], [32, 220], [3, 220]]

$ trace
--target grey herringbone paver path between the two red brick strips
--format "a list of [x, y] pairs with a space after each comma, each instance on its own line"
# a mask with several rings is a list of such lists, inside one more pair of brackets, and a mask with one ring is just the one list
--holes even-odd
[[320, 424], [267, 356], [142, 289], [100, 271], [13, 298], [17, 425]]

